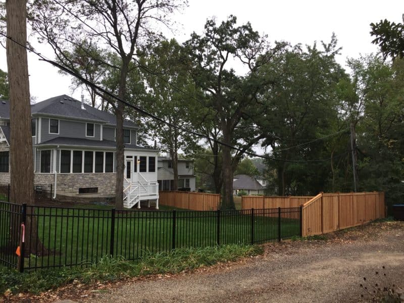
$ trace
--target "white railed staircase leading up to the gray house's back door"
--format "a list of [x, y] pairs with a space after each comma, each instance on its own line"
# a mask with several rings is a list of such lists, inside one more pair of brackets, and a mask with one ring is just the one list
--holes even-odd
[[[139, 176], [141, 176], [139, 174]], [[133, 208], [137, 204], [140, 209], [140, 201], [147, 200], [148, 207], [150, 207], [149, 200], [156, 200], [156, 209], [159, 209], [159, 183], [148, 182], [143, 176], [142, 182], [131, 183], [124, 178], [123, 190], [123, 206], [124, 208]]]

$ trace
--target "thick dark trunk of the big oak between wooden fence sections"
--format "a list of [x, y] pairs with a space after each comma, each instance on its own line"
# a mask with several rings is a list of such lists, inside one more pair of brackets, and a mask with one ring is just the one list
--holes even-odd
[[[230, 135], [223, 131], [223, 141], [230, 145]], [[234, 210], [233, 200], [233, 168], [231, 163], [231, 148], [223, 145], [223, 196], [222, 210]]]

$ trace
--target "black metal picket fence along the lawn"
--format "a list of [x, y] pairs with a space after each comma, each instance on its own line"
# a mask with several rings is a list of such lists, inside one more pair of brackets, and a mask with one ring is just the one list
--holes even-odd
[[[6, 217], [15, 207], [10, 203], [0, 205], [0, 216]], [[200, 212], [23, 205], [13, 214], [19, 216], [19, 222], [25, 222], [21, 271], [86, 266], [106, 255], [138, 260], [150, 252], [178, 247], [265, 243], [301, 235], [301, 208]], [[18, 246], [10, 241], [15, 237], [8, 227], [14, 225], [7, 218], [2, 222], [0, 245], [12, 249], [0, 254], [0, 262], [17, 267], [16, 256], [7, 255]]]

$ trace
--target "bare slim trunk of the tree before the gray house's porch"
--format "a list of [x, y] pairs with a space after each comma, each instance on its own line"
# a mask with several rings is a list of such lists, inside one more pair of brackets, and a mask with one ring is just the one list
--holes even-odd
[[[129, 61], [122, 61], [121, 67], [121, 79], [119, 82], [118, 97], [121, 100], [125, 99], [126, 96], [126, 77], [128, 75], [128, 65]], [[117, 117], [117, 136], [116, 136], [116, 146], [117, 146], [117, 175], [116, 175], [116, 199], [115, 207], [118, 210], [123, 210], [123, 176], [125, 170], [125, 151], [123, 144], [123, 112], [125, 106], [122, 102], [118, 102], [116, 117]]]

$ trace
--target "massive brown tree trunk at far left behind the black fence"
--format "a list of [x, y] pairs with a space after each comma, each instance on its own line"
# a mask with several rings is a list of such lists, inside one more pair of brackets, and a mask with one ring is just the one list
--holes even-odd
[[[29, 97], [28, 61], [26, 49], [26, 0], [9, 0], [7, 10], [7, 66], [10, 88], [10, 201], [16, 204], [34, 204], [33, 154], [31, 137], [31, 106]], [[20, 43], [21, 45], [17, 44]], [[37, 222], [29, 220], [31, 207], [28, 207], [25, 247], [26, 254], [37, 254], [45, 249], [38, 239]], [[19, 243], [19, 226], [11, 223], [12, 241]], [[14, 239], [13, 239], [14, 238]], [[17, 242], [15, 242], [17, 241]], [[31, 243], [35, 241], [35, 245]], [[34, 247], [35, 246], [35, 247]], [[31, 251], [29, 250], [31, 247]], [[46, 251], [47, 253], [47, 251]]]

